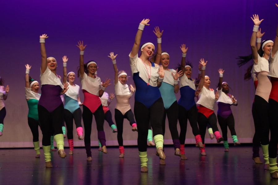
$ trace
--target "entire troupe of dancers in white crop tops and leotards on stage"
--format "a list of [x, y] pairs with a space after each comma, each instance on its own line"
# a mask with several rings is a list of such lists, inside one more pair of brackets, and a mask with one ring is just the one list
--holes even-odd
[[[252, 60], [251, 67], [245, 75], [245, 79], [254, 80], [256, 93], [252, 107], [255, 123], [255, 135], [253, 138], [253, 159], [256, 163], [262, 163], [259, 159], [259, 145], [263, 149], [265, 169], [269, 169], [273, 178], [278, 178], [278, 167], [276, 162], [278, 128], [274, 124], [277, 121], [275, 115], [278, 109], [277, 86], [277, 50], [278, 50], [278, 27], [276, 38], [266, 40], [261, 43], [263, 33], [259, 29], [258, 15], [251, 18], [254, 22], [251, 37], [252, 55], [240, 57], [239, 65]], [[29, 108], [28, 125], [33, 134], [33, 143], [36, 150], [36, 157], [40, 157], [39, 132], [43, 134], [42, 147], [46, 167], [53, 167], [51, 163], [51, 137], [57, 144], [58, 154], [61, 158], [66, 157], [64, 151], [64, 133], [62, 130], [63, 120], [67, 127], [67, 139], [70, 147], [69, 154], [73, 154], [73, 121], [76, 125], [78, 139], [84, 139], [87, 161], [92, 161], [91, 154], [91, 125], [93, 115], [98, 131], [99, 150], [107, 153], [105, 132], [103, 130], [104, 120], [117, 133], [120, 158], [124, 157], [123, 145], [123, 122], [126, 118], [132, 131], [138, 132], [137, 144], [139, 158], [141, 161], [141, 172], [147, 172], [147, 146], [156, 147], [156, 155], [160, 159], [160, 164], [165, 165], [166, 155], [164, 154], [164, 134], [165, 121], [168, 118], [169, 130], [174, 144], [175, 155], [181, 159], [185, 156], [184, 143], [187, 132], [187, 120], [196, 139], [196, 147], [200, 148], [200, 154], [205, 152], [205, 134], [208, 128], [210, 137], [216, 138], [217, 143], [223, 141], [225, 152], [229, 151], [227, 128], [230, 129], [235, 146], [240, 145], [234, 129], [234, 116], [231, 105], [237, 106], [236, 98], [229, 93], [229, 85], [223, 81], [223, 69], [218, 69], [219, 82], [216, 92], [210, 88], [210, 78], [205, 75], [208, 61], [200, 59], [198, 64], [199, 74], [196, 80], [192, 78], [192, 64], [186, 63], [187, 47], [182, 44], [181, 64], [178, 69], [170, 69], [170, 54], [162, 51], [162, 34], [159, 27], [155, 27], [154, 34], [157, 37], [157, 50], [153, 43], [141, 44], [141, 37], [145, 26], [148, 26], [150, 19], [143, 19], [139, 24], [135, 36], [133, 48], [129, 54], [129, 64], [131, 67], [134, 85], [127, 84], [128, 73], [118, 70], [116, 57], [113, 52], [108, 55], [112, 60], [115, 72], [114, 81], [106, 79], [104, 82], [97, 76], [98, 65], [94, 60], [84, 64], [84, 52], [86, 45], [79, 41], [76, 45], [80, 52], [79, 69], [77, 76], [81, 80], [81, 89], [84, 95], [83, 103], [80, 102], [80, 87], [74, 83], [76, 74], [67, 72], [68, 58], [64, 56], [63, 77], [57, 75], [57, 60], [54, 57], [47, 57], [45, 49], [46, 34], [40, 36], [41, 68], [40, 84], [29, 76], [31, 66], [26, 64], [25, 95]], [[256, 45], [256, 37], [257, 45]], [[140, 50], [140, 57], [138, 51]], [[269, 61], [269, 62], [268, 62]], [[124, 64], [125, 65], [125, 64]], [[278, 69], [277, 69], [278, 70]], [[267, 76], [271, 77], [271, 81]], [[62, 78], [62, 82], [61, 82]], [[114, 83], [115, 95], [110, 96], [105, 92], [107, 86]], [[0, 136], [3, 132], [3, 120], [6, 115], [3, 100], [7, 99], [9, 86], [3, 85], [0, 78]], [[39, 88], [41, 85], [41, 94]], [[180, 91], [180, 99], [177, 101], [175, 93]], [[130, 106], [130, 98], [135, 94], [134, 114]], [[63, 104], [61, 95], [64, 95]], [[112, 113], [108, 106], [116, 96], [115, 121], [112, 120]], [[197, 99], [197, 102], [195, 101]], [[269, 100], [269, 101], [268, 101]], [[214, 113], [214, 104], [217, 102], [217, 116]], [[83, 107], [81, 111], [80, 106]], [[84, 124], [84, 134], [81, 125]], [[221, 136], [217, 120], [222, 130]], [[177, 123], [179, 121], [180, 134]], [[152, 129], [152, 130], [151, 130]], [[269, 142], [268, 134], [271, 131]], [[84, 135], [84, 137], [83, 137]], [[152, 142], [154, 138], [154, 143]], [[149, 144], [147, 144], [147, 141]], [[269, 151], [269, 155], [268, 155]]]

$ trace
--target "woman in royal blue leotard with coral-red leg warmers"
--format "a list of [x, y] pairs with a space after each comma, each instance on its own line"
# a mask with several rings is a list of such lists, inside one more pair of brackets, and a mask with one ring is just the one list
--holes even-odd
[[188, 47], [185, 47], [185, 44], [182, 44], [180, 47], [182, 50], [182, 60], [180, 68], [183, 71], [183, 76], [179, 78], [180, 85], [180, 99], [178, 101], [179, 104], [179, 125], [180, 125], [180, 135], [179, 141], [181, 159], [187, 159], [184, 152], [184, 144], [185, 144], [185, 136], [187, 131], [187, 119], [190, 122], [190, 126], [192, 128], [192, 132], [195, 136], [196, 146], [203, 148], [202, 138], [200, 135], [200, 131], [197, 125], [198, 118], [198, 110], [195, 103], [195, 91], [196, 85], [195, 80], [191, 78], [192, 76], [192, 66], [185, 65], [185, 57], [187, 53]]

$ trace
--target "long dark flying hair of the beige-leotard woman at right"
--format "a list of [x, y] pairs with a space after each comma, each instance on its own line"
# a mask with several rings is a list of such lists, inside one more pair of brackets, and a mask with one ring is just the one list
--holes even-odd
[[[268, 39], [267, 39], [267, 40], [268, 40]], [[263, 56], [263, 48], [262, 48], [263, 43], [265, 43], [267, 40], [264, 40], [264, 41], [262, 42], [261, 47], [260, 47], [259, 50], [258, 50], [258, 54], [259, 54], [260, 57]], [[252, 60], [252, 54], [247, 55], [247, 56], [239, 56], [239, 57], [236, 58], [236, 59], [238, 59], [238, 61], [237, 61], [238, 67], [241, 67], [241, 66], [243, 66], [244, 64], [246, 64], [246, 63], [248, 63], [249, 61]], [[249, 67], [247, 68], [246, 73], [244, 74], [244, 80], [250, 80], [250, 79], [251, 79], [251, 70], [252, 70], [252, 68], [253, 68], [253, 63], [251, 64], [251, 66], [249, 66]]]

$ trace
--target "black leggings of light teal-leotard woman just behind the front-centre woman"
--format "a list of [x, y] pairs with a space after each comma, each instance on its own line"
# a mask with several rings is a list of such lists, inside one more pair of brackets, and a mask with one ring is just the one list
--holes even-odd
[[179, 109], [178, 109], [177, 101], [174, 101], [174, 103], [168, 109], [164, 108], [164, 115], [163, 115], [163, 120], [162, 120], [163, 136], [165, 134], [166, 115], [168, 118], [169, 130], [171, 132], [172, 140], [174, 140], [174, 139], [179, 140], [179, 132], [178, 132], [178, 128], [177, 128]]

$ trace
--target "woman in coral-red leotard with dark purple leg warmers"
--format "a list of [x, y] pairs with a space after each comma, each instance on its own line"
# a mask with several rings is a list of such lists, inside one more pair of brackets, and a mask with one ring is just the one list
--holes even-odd
[[102, 152], [107, 154], [105, 133], [103, 130], [104, 111], [99, 97], [103, 95], [103, 92], [105, 91], [107, 86], [110, 85], [110, 79], [106, 79], [106, 81], [101, 84], [100, 78], [95, 76], [95, 72], [98, 69], [97, 63], [95, 61], [89, 61], [87, 64], [84, 64], [84, 50], [87, 45], [84, 46], [83, 41], [79, 41], [78, 45], [76, 46], [80, 50], [80, 68], [78, 70], [78, 77], [80, 77], [82, 91], [84, 93], [82, 113], [82, 119], [85, 130], [84, 142], [87, 154], [87, 161], [92, 161], [91, 130], [93, 114], [95, 116], [95, 121], [98, 130], [98, 139], [102, 146]]

